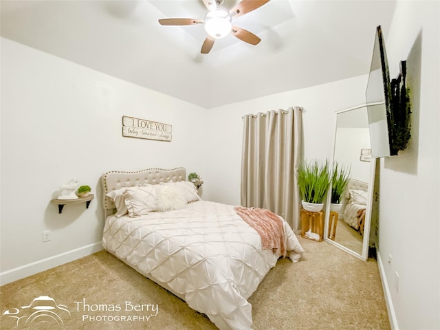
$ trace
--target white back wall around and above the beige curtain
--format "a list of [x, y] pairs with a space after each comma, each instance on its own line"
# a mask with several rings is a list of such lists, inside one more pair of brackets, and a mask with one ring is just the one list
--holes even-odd
[[303, 107], [305, 159], [330, 159], [335, 112], [365, 103], [367, 79], [368, 76], [359, 76], [210, 109], [207, 126], [212, 152], [208, 153], [208, 171], [203, 175], [209, 182], [206, 195], [223, 203], [240, 203], [241, 117], [244, 114]]

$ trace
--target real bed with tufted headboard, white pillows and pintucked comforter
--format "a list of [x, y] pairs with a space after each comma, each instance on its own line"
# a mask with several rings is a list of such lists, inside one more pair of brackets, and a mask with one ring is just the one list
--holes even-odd
[[[102, 245], [206, 314], [219, 329], [252, 329], [248, 298], [281, 256], [296, 262], [303, 248], [289, 225], [276, 216], [285, 252], [263, 249], [264, 237], [243, 221], [238, 208], [201, 200], [197, 188], [185, 179], [184, 168], [102, 175]], [[183, 206], [175, 206], [180, 198], [176, 193], [184, 196]], [[143, 210], [149, 203], [155, 210]]]

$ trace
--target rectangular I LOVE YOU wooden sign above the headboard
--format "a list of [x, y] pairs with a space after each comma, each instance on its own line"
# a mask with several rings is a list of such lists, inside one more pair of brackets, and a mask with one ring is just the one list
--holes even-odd
[[173, 126], [139, 118], [122, 116], [122, 136], [171, 141]]

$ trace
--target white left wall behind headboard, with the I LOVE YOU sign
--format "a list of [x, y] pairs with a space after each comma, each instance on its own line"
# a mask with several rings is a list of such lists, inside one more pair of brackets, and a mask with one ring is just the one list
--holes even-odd
[[[173, 125], [173, 141], [122, 137], [122, 115]], [[100, 250], [100, 176], [107, 170], [184, 166], [203, 173], [206, 110], [1, 39], [1, 281]], [[75, 177], [95, 194], [50, 203]], [[43, 230], [52, 241], [43, 243]], [[63, 254], [59, 256], [59, 254]], [[47, 260], [46, 260], [47, 259]], [[35, 263], [35, 264], [34, 264]], [[18, 267], [18, 268], [17, 268]]]

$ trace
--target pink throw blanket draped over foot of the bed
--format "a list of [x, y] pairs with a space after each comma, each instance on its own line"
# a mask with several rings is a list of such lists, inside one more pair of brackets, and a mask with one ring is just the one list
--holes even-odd
[[263, 249], [286, 256], [283, 221], [270, 210], [235, 206], [236, 214], [261, 236]]

